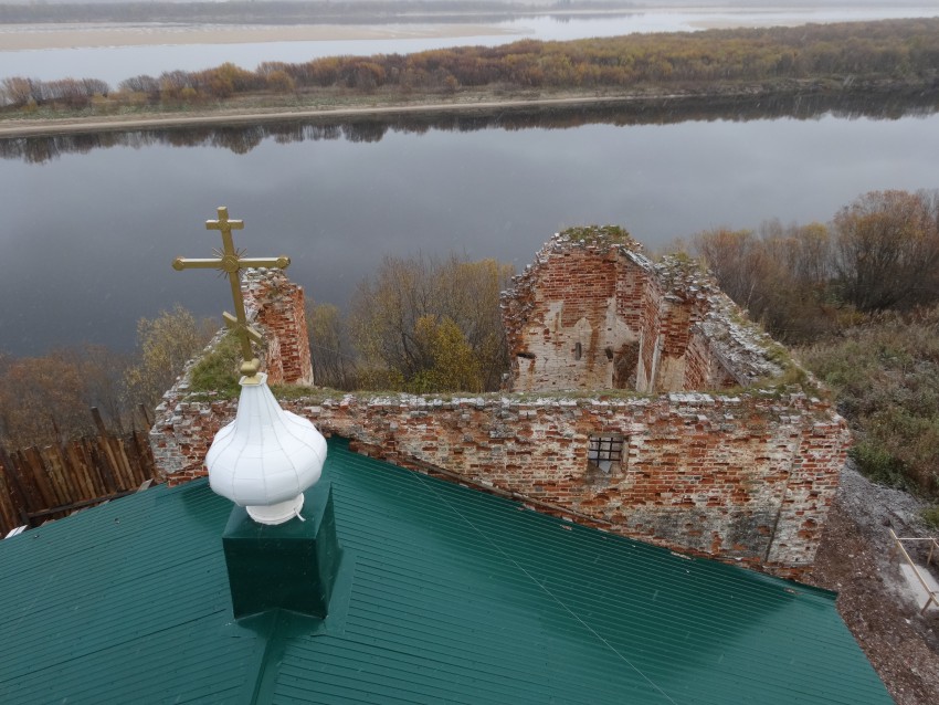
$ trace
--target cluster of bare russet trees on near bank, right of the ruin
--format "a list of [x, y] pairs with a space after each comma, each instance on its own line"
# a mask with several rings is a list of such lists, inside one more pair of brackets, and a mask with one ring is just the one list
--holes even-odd
[[939, 192], [872, 191], [827, 227], [770, 222], [694, 242], [724, 291], [790, 341], [835, 328], [844, 312], [939, 301]]

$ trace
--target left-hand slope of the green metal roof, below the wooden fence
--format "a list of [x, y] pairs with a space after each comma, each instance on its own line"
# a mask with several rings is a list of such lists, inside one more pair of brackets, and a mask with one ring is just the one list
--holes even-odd
[[0, 553], [0, 613], [12, 615], [0, 643], [19, 646], [0, 660], [0, 701], [182, 703], [243, 691], [264, 643], [231, 624], [220, 540], [205, 540], [230, 511], [204, 488], [160, 487]]

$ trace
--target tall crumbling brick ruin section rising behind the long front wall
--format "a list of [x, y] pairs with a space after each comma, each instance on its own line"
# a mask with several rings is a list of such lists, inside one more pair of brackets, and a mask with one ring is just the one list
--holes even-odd
[[612, 227], [556, 234], [504, 293], [503, 312], [515, 391], [719, 389], [780, 371], [747, 343], [742, 356], [709, 341], [689, 351], [694, 330], [738, 346], [742, 328], [725, 329], [743, 316], [695, 262], [654, 264]]

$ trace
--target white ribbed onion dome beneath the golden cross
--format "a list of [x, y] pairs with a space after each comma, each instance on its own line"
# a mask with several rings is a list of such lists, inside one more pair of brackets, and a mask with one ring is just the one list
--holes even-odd
[[323, 473], [326, 440], [307, 419], [285, 411], [267, 387], [242, 380], [235, 420], [205, 455], [209, 485], [262, 524], [299, 516], [303, 493]]

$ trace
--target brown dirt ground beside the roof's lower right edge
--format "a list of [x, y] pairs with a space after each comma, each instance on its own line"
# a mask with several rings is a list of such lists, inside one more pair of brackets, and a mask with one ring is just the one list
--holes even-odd
[[[838, 612], [899, 705], [939, 704], [939, 608], [919, 614], [925, 600], [915, 601], [889, 535], [936, 536], [922, 506], [845, 467], [810, 580], [838, 592]], [[914, 558], [924, 565], [926, 551]]]

